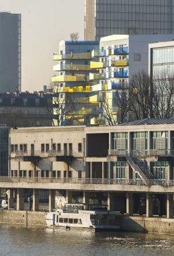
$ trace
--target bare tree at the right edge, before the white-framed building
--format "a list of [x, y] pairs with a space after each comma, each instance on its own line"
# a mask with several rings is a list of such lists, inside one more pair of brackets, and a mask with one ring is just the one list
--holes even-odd
[[174, 114], [174, 74], [161, 71], [156, 74], [152, 86], [153, 117], [169, 118]]

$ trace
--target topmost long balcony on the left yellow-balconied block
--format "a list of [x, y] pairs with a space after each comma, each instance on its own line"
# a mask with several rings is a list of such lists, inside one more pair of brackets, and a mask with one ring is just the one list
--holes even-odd
[[89, 60], [90, 52], [54, 55], [53, 60]]

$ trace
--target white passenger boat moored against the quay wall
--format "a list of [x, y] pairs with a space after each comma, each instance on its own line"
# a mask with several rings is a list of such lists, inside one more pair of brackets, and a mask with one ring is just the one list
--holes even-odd
[[45, 215], [49, 228], [120, 229], [119, 211], [108, 211], [108, 205], [65, 204]]

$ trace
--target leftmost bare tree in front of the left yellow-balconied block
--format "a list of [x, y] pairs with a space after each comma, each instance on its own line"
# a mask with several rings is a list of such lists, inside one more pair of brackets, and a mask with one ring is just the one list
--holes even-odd
[[57, 82], [51, 83], [50, 88], [52, 102], [48, 102], [47, 113], [53, 126], [71, 125], [75, 109], [71, 93], [64, 92], [63, 87]]

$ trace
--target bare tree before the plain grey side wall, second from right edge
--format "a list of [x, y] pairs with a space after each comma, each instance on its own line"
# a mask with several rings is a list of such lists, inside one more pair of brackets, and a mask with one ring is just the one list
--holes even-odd
[[133, 74], [129, 81], [130, 120], [148, 118], [150, 115], [150, 78], [144, 70]]

